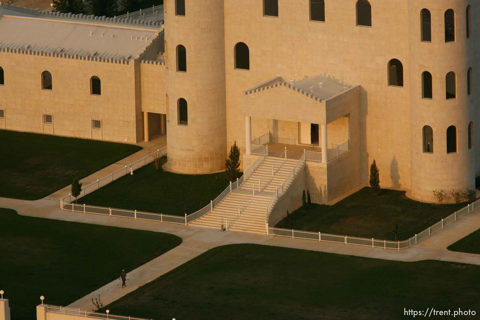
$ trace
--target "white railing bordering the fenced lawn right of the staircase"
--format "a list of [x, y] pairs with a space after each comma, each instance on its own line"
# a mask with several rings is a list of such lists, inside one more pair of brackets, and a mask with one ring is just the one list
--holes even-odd
[[449, 225], [455, 222], [459, 218], [463, 217], [465, 214], [470, 213], [473, 210], [478, 209], [479, 207], [480, 207], [480, 199], [450, 214], [446, 218], [429, 226], [427, 229], [416, 234], [415, 236], [402, 241], [379, 240], [374, 238], [351, 237], [346, 235], [342, 236], [342, 235], [334, 235], [334, 234], [322, 233], [322, 232], [283, 229], [283, 228], [275, 228], [275, 227], [268, 227], [268, 226], [267, 226], [267, 231], [269, 236], [308, 239], [308, 240], [315, 240], [315, 241], [343, 243], [343, 244], [354, 245], [354, 246], [400, 250], [400, 249], [407, 249], [413, 246], [414, 244], [417, 244], [419, 241], [432, 235], [432, 233], [443, 229], [445, 225]]

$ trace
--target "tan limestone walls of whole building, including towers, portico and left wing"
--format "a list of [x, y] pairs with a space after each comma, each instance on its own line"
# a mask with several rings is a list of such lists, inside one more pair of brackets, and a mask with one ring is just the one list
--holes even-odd
[[[21, 48], [25, 41], [19, 36], [16, 48], [0, 46], [5, 77], [0, 128], [4, 124], [7, 130], [128, 143], [147, 140], [160, 130], [167, 132], [171, 169], [192, 174], [223, 170], [235, 141], [245, 154], [245, 168], [255, 159], [247, 140], [269, 131], [277, 140], [317, 143], [325, 147], [325, 155], [327, 148], [348, 141], [347, 154], [307, 163], [305, 185], [316, 202], [368, 183], [373, 159], [382, 187], [409, 189], [419, 200], [432, 201], [432, 190], [475, 187], [475, 175], [480, 174], [480, 139], [475, 133], [480, 123], [480, 91], [475, 86], [480, 83], [479, 0], [362, 0], [370, 4], [371, 26], [357, 25], [357, 0], [325, 0], [323, 22], [311, 21], [310, 0], [273, 2], [278, 3], [278, 16], [264, 16], [264, 1], [259, 0], [185, 0], [184, 15], [177, 14], [175, 0], [165, 0], [161, 26], [82, 21], [109, 32], [121, 26], [142, 30], [139, 35], [156, 33], [145, 48], [131, 47], [136, 53], [127, 60], [92, 61], [85, 54], [75, 58], [77, 53], [49, 56], [36, 53], [40, 46], [32, 53]], [[422, 9], [430, 12], [430, 19], [422, 20]], [[447, 21], [449, 9], [454, 18]], [[22, 14], [45, 19], [35, 12]], [[450, 21], [454, 41], [445, 41]], [[427, 27], [431, 38], [423, 39]], [[126, 36], [123, 41], [132, 46], [133, 39]], [[248, 47], [248, 68], [236, 68], [240, 42]], [[179, 56], [179, 46], [186, 58], [181, 51]], [[121, 43], [116, 50], [120, 48]], [[186, 71], [178, 68], [181, 59], [186, 59]], [[401, 67], [393, 66], [392, 59]], [[401, 73], [403, 83], [394, 83], [392, 68]], [[51, 91], [40, 88], [45, 70], [52, 73]], [[431, 98], [423, 95], [424, 71], [432, 75]], [[455, 98], [445, 95], [450, 71], [455, 72]], [[90, 95], [93, 75], [102, 80], [101, 96]], [[319, 79], [325, 82], [320, 90], [320, 83], [312, 85]], [[180, 99], [187, 106], [182, 120]], [[42, 124], [42, 113], [53, 115], [53, 126]], [[92, 131], [91, 119], [102, 120], [100, 136]], [[246, 132], [245, 121], [250, 121], [251, 132]], [[424, 126], [433, 130], [428, 152]], [[455, 141], [456, 151], [447, 153], [451, 126], [456, 134], [449, 143]]]

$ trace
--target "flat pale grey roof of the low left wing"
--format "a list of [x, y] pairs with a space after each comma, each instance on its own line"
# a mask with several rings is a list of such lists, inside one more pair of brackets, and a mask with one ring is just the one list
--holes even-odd
[[[6, 9], [0, 9], [9, 11]], [[158, 36], [158, 30], [144, 26], [112, 25], [71, 19], [0, 15], [0, 48], [58, 52], [103, 59], [135, 57]], [[5, 14], [5, 13], [4, 13]], [[59, 48], [62, 50], [59, 52]]]

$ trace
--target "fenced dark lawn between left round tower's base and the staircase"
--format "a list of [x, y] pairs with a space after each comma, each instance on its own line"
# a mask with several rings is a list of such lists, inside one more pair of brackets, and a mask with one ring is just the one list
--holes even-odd
[[228, 186], [225, 172], [181, 175], [156, 170], [153, 164], [134, 171], [86, 196], [78, 203], [184, 215], [201, 209]]

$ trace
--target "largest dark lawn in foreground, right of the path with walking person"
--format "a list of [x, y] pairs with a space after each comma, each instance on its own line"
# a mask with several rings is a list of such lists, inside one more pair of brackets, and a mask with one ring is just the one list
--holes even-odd
[[208, 250], [104, 310], [209, 320], [406, 319], [404, 308], [478, 314], [479, 277], [478, 265], [238, 244]]

